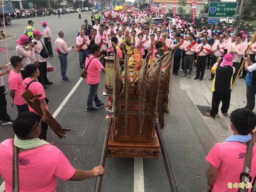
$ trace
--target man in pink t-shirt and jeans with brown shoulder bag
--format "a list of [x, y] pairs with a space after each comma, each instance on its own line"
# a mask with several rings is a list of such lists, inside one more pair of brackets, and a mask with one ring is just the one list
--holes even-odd
[[[87, 69], [86, 82], [90, 86], [89, 94], [87, 97], [87, 106], [85, 109], [86, 111], [98, 111], [98, 108], [104, 106], [104, 103], [101, 103], [97, 95], [100, 83], [100, 70], [105, 73], [105, 68], [100, 62], [103, 57], [105, 57], [105, 55], [100, 56], [100, 46], [97, 44], [92, 45], [92, 55], [89, 55], [86, 58], [84, 64], [85, 69]], [[96, 108], [92, 107], [92, 100], [94, 100]]]

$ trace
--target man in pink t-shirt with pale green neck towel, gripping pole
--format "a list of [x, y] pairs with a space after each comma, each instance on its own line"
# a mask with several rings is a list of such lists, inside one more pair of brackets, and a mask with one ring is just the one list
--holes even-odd
[[5, 192], [12, 191], [13, 143], [19, 150], [20, 192], [56, 192], [57, 177], [81, 181], [104, 174], [101, 165], [87, 171], [73, 168], [60, 149], [38, 138], [42, 130], [40, 121], [33, 112], [19, 114], [13, 124], [14, 140], [7, 139], [0, 144], [0, 173]]

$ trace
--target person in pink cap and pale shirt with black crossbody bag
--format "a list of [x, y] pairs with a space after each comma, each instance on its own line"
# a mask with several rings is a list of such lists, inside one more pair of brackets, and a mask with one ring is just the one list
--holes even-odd
[[[44, 35], [43, 33], [40, 33], [39, 30], [35, 30], [33, 32], [34, 38], [32, 42], [34, 42], [35, 47], [32, 48], [32, 58], [36, 65], [38, 65], [40, 76], [37, 77], [38, 82], [41, 83], [44, 87], [44, 89], [47, 88], [45, 84], [52, 84], [47, 78], [47, 57], [48, 57], [48, 51], [44, 47], [43, 42], [41, 41], [41, 37]], [[35, 43], [36, 42], [36, 43]], [[43, 55], [43, 51], [45, 51], [46, 55]]]

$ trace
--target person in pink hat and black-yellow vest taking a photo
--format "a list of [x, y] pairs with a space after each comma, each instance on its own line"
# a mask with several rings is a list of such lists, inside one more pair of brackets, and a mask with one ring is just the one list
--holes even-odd
[[[212, 80], [212, 110], [210, 113], [205, 115], [215, 119], [215, 116], [219, 112], [220, 101], [222, 102], [221, 113], [224, 116], [228, 116], [228, 109], [230, 104], [231, 97], [231, 81], [232, 76], [235, 73], [235, 68], [233, 65], [232, 54], [226, 54], [223, 58], [218, 57], [217, 62], [211, 69], [211, 72], [215, 74], [214, 79]], [[220, 63], [220, 67], [218, 67]], [[218, 67], [218, 68], [217, 68]]]

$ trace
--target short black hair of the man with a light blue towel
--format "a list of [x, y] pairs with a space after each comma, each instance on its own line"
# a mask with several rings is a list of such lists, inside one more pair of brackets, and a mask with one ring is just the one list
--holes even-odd
[[230, 121], [239, 134], [248, 135], [256, 125], [256, 115], [249, 109], [239, 108], [231, 113]]

